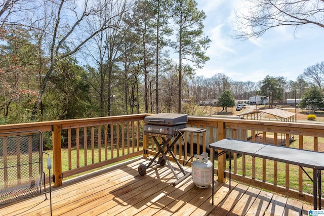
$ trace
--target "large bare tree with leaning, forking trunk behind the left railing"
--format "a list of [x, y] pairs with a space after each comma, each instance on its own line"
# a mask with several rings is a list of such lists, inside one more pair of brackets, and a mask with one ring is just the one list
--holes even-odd
[[[45, 1], [44, 4], [50, 4], [52, 10], [50, 14], [45, 16], [50, 16], [51, 26], [53, 29], [46, 29], [48, 31], [48, 55], [49, 55], [49, 66], [48, 70], [43, 78], [41, 88], [39, 90], [39, 96], [37, 101], [34, 104], [32, 111], [32, 119], [35, 118], [39, 105], [42, 103], [43, 95], [46, 90], [48, 81], [55, 71], [57, 62], [60, 59], [74, 55], [80, 48], [82, 48], [91, 38], [96, 34], [105, 29], [109, 28], [109, 19], [106, 19], [105, 22], [102, 22], [101, 25], [97, 27], [92, 33], [87, 34], [82, 30], [87, 23], [87, 20], [91, 17], [100, 17], [100, 12], [105, 10], [107, 7], [110, 7], [112, 2], [118, 0], [106, 0], [99, 4], [97, 1], [84, 1], [83, 5], [80, 5], [79, 2], [75, 0], [70, 1]], [[47, 13], [48, 11], [44, 11]], [[116, 14], [114, 16], [118, 16]], [[110, 17], [110, 19], [113, 17]], [[70, 45], [69, 49], [65, 49], [66, 52], [61, 52], [64, 47]]]

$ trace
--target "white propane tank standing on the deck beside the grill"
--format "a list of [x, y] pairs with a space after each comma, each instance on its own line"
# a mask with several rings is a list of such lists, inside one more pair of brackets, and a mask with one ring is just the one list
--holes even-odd
[[208, 160], [208, 153], [195, 155], [192, 163], [192, 181], [199, 188], [208, 188], [212, 184], [213, 163]]

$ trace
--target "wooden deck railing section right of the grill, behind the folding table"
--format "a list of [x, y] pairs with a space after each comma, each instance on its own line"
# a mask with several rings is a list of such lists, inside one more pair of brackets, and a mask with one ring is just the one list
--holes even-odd
[[[185, 151], [188, 150], [188, 155], [183, 156], [182, 148], [174, 150], [181, 162], [202, 151], [209, 152], [210, 143], [224, 138], [249, 139], [252, 142], [324, 151], [324, 127], [318, 124], [210, 117], [189, 117], [188, 119], [189, 126], [206, 128], [207, 133], [184, 135], [186, 145], [183, 148]], [[291, 144], [293, 140], [295, 142]], [[183, 141], [179, 142], [183, 145]], [[153, 141], [149, 142], [149, 149], [149, 153], [154, 155], [155, 151], [152, 149], [156, 148]], [[233, 154], [232, 158], [232, 179], [302, 201], [313, 202], [313, 183], [300, 167], [246, 155]], [[218, 174], [218, 181], [224, 182], [223, 174], [225, 173], [226, 177], [229, 175], [226, 171], [229, 170], [229, 157], [224, 154], [215, 160], [217, 160], [215, 173]], [[191, 166], [190, 161], [188, 165]], [[305, 170], [312, 176], [311, 169], [305, 168]]]

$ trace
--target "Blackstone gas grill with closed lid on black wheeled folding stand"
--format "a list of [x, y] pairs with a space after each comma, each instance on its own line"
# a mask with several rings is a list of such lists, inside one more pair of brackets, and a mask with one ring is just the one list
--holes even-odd
[[[187, 114], [177, 114], [177, 113], [158, 113], [155, 115], [146, 116], [144, 118], [144, 135], [151, 136], [156, 143], [158, 148], [157, 153], [155, 154], [154, 158], [151, 159], [148, 165], [144, 165], [140, 163], [138, 167], [138, 172], [141, 176], [146, 174], [146, 169], [154, 166], [156, 164], [160, 164], [164, 166], [168, 163], [171, 171], [173, 172], [174, 177], [177, 179], [173, 183], [173, 186], [177, 185], [182, 180], [186, 179], [191, 175], [191, 172], [186, 172], [181, 164], [179, 163], [177, 157], [173, 153], [172, 149], [177, 141], [181, 138], [182, 133], [184, 132], [191, 132], [191, 133], [203, 133], [206, 132], [204, 128], [197, 128], [197, 127], [187, 127], [186, 124], [188, 122], [188, 115]], [[159, 143], [157, 141], [157, 137], [161, 138], [163, 141]], [[174, 139], [173, 139], [174, 138]], [[173, 141], [172, 141], [173, 139]], [[170, 142], [172, 141], [172, 142]], [[171, 144], [170, 144], [171, 143]], [[181, 148], [181, 147], [180, 147]], [[174, 161], [178, 165], [181, 170], [182, 177], [179, 177], [173, 166], [171, 165], [168, 157], [166, 156], [168, 153], [171, 154]], [[156, 161], [156, 158], [158, 160]], [[179, 173], [180, 174], [180, 173]]]

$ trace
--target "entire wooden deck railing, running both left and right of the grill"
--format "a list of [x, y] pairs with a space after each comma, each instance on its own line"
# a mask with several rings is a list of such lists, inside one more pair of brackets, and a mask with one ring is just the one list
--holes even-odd
[[[79, 172], [138, 155], [155, 155], [155, 144], [143, 135], [145, 116], [146, 114], [137, 114], [0, 125], [0, 133], [30, 129], [50, 133], [53, 142], [54, 185], [60, 186], [63, 178]], [[250, 139], [254, 142], [324, 151], [324, 127], [318, 124], [190, 116], [188, 126], [206, 128], [207, 132], [185, 133], [184, 141], [178, 141], [174, 152], [181, 163], [195, 154], [209, 152], [209, 144], [223, 138]], [[297, 141], [290, 144], [293, 139]], [[179, 144], [182, 148], [179, 148]], [[63, 149], [68, 151], [67, 158], [62, 158]], [[232, 179], [312, 202], [312, 182], [301, 168], [245, 155], [234, 154], [232, 157]], [[215, 159], [218, 181], [224, 182], [224, 171], [225, 176], [228, 176], [228, 158], [222, 155]], [[189, 166], [192, 161], [193, 159], [189, 160]], [[68, 168], [62, 170], [62, 167]], [[308, 171], [311, 173], [311, 170]]]

